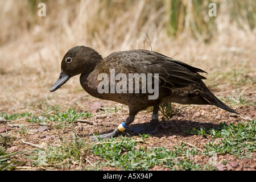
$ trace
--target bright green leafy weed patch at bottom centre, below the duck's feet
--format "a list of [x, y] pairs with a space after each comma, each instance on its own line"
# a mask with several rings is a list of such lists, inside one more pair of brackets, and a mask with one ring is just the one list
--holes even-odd
[[214, 169], [214, 167], [201, 166], [189, 160], [189, 155], [199, 154], [199, 151], [185, 147], [184, 143], [174, 147], [174, 150], [169, 150], [161, 146], [138, 147], [139, 142], [143, 141], [127, 137], [100, 140], [100, 143], [93, 145], [93, 153], [105, 160], [102, 163], [103, 166], [123, 170], [147, 170], [156, 165], [174, 170]]

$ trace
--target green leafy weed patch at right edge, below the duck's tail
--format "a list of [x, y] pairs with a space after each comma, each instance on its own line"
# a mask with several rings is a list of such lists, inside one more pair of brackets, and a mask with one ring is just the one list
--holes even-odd
[[[187, 134], [210, 135], [214, 137], [212, 142], [205, 145], [205, 154], [231, 154], [238, 159], [250, 158], [250, 152], [256, 151], [256, 120], [226, 125], [221, 123], [219, 129], [193, 129]], [[220, 138], [220, 139], [216, 139]]]

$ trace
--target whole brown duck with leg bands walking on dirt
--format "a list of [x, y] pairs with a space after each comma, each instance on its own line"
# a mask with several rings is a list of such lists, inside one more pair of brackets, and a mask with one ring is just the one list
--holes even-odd
[[[116, 79], [113, 84], [113, 73], [123, 73], [127, 76], [127, 84], [120, 86], [122, 79]], [[100, 135], [101, 138], [116, 137], [122, 133], [134, 121], [135, 115], [147, 107], [153, 106], [152, 120], [150, 125], [138, 127], [134, 131], [138, 133], [155, 133], [158, 127], [158, 110], [159, 104], [165, 102], [176, 102], [179, 104], [199, 104], [199, 105], [215, 105], [226, 111], [236, 113], [229, 106], [218, 100], [212, 92], [207, 88], [202, 79], [206, 79], [199, 73], [205, 71], [192, 67], [179, 60], [172, 59], [160, 53], [146, 50], [120, 51], [110, 54], [105, 59], [94, 51], [94, 49], [84, 46], [76, 46], [70, 49], [61, 61], [61, 73], [59, 80], [52, 86], [50, 92], [54, 92], [60, 86], [65, 84], [69, 78], [80, 75], [80, 83], [82, 88], [93, 97], [104, 100], [111, 100], [129, 106], [129, 117], [122, 122], [114, 131], [108, 134]], [[98, 78], [101, 73], [105, 73], [107, 82], [110, 83], [109, 88], [100, 86], [105, 92], [99, 92], [99, 84], [102, 85], [102, 78]], [[139, 92], [136, 92], [135, 77], [129, 77], [129, 73], [134, 75], [151, 74], [151, 82], [147, 82], [147, 86], [158, 88], [158, 97], [149, 99], [154, 93], [143, 91], [145, 81], [143, 77], [139, 77]], [[123, 77], [122, 77], [123, 78]], [[128, 80], [132, 79], [134, 84], [129, 85]], [[150, 77], [147, 77], [150, 80]], [[129, 81], [130, 81], [129, 80]], [[113, 92], [112, 88], [118, 85], [122, 91]], [[138, 80], [137, 80], [138, 82]], [[156, 82], [158, 84], [154, 85]], [[133, 82], [132, 82], [133, 83]], [[137, 85], [137, 87], [138, 87]], [[152, 86], [154, 85], [154, 86]], [[114, 86], [114, 87], [111, 87]], [[129, 90], [130, 86], [130, 90]]]

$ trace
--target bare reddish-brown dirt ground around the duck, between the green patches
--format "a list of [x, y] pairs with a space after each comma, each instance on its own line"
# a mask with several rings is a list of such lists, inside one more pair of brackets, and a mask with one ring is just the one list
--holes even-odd
[[[247, 93], [253, 95], [255, 98], [255, 90], [250, 89], [247, 90]], [[62, 100], [61, 102], [63, 102]], [[40, 102], [40, 101], [39, 101]], [[107, 133], [108, 131], [112, 131], [115, 127], [125, 118], [127, 117], [128, 107], [125, 105], [117, 104], [112, 101], [104, 101], [98, 100], [97, 98], [93, 98], [89, 96], [85, 92], [79, 92], [78, 94], [68, 94], [68, 97], [65, 98], [63, 105], [65, 102], [73, 103], [73, 108], [80, 111], [92, 111], [93, 117], [86, 119], [89, 122], [77, 122], [75, 125], [70, 125], [68, 127], [64, 127], [64, 129], [56, 129], [53, 125], [55, 123], [48, 121], [47, 122], [47, 130], [42, 132], [34, 132], [39, 129], [40, 125], [36, 123], [27, 122], [26, 118], [16, 119], [14, 121], [1, 121], [0, 129], [6, 129], [6, 131], [1, 131], [1, 134], [5, 134], [10, 137], [13, 137], [11, 142], [8, 144], [8, 152], [15, 151], [27, 151], [28, 154], [31, 150], [34, 150], [36, 147], [44, 147], [45, 144], [53, 144], [61, 138], [71, 138], [72, 133], [76, 131], [77, 135], [80, 136], [88, 136], [93, 133]], [[84, 106], [81, 109], [80, 106]], [[114, 111], [102, 114], [97, 111], [98, 107], [104, 108], [114, 108], [118, 107], [118, 111], [115, 113]], [[35, 106], [35, 114], [42, 114], [42, 110], [44, 106]], [[159, 127], [158, 133], [151, 134], [151, 137], [147, 139], [148, 147], [158, 147], [164, 146], [166, 148], [171, 148], [176, 146], [176, 144], [180, 144], [181, 142], [185, 143], [188, 146], [196, 147], [197, 149], [203, 150], [206, 143], [211, 142], [211, 137], [202, 137], [200, 135], [190, 135], [185, 134], [185, 131], [188, 129], [200, 129], [203, 127], [214, 128], [218, 126], [220, 122], [230, 123], [239, 123], [251, 118], [256, 117], [256, 109], [254, 106], [250, 107], [234, 107], [240, 115], [231, 114], [224, 110], [218, 109], [214, 106], [186, 106], [183, 107], [181, 105], [174, 105], [174, 107], [179, 108], [177, 114], [174, 115], [171, 119], [164, 119], [163, 115], [160, 114], [160, 121], [164, 125], [164, 129]], [[152, 109], [152, 108], [151, 108]], [[137, 126], [142, 123], [150, 122], [151, 119], [151, 109], [147, 109], [145, 111], [141, 111], [137, 114], [135, 121], [131, 125]], [[96, 110], [96, 112], [95, 112]], [[93, 124], [92, 124], [93, 123]], [[23, 126], [27, 129], [26, 132], [20, 133], [20, 126]], [[131, 136], [133, 136], [132, 131], [127, 131]], [[233, 155], [218, 155], [216, 158], [216, 165], [218, 170], [255, 170], [256, 169], [256, 154], [255, 152], [250, 155], [252, 158], [243, 158], [237, 159], [236, 156]], [[45, 169], [43, 167], [32, 167], [31, 160], [26, 158], [24, 155], [18, 155], [16, 158], [19, 162], [26, 162], [25, 164], [19, 165], [16, 164], [16, 169], [20, 170], [42, 170]], [[96, 160], [96, 159], [92, 159]], [[208, 156], [195, 156], [193, 158], [196, 163], [207, 164], [209, 162]], [[221, 162], [227, 160], [230, 163], [222, 166]], [[232, 164], [233, 166], [230, 166]], [[71, 168], [72, 169], [72, 168]], [[116, 170], [113, 167], [104, 167], [102, 170]], [[163, 168], [160, 166], [155, 166], [149, 170], [168, 170], [168, 168]]]

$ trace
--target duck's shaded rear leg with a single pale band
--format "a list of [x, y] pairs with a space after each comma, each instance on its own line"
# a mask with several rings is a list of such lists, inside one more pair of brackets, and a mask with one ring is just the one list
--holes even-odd
[[133, 127], [130, 130], [136, 134], [154, 134], [158, 131], [158, 110], [159, 105], [153, 107], [152, 119], [149, 124], [144, 126]]

